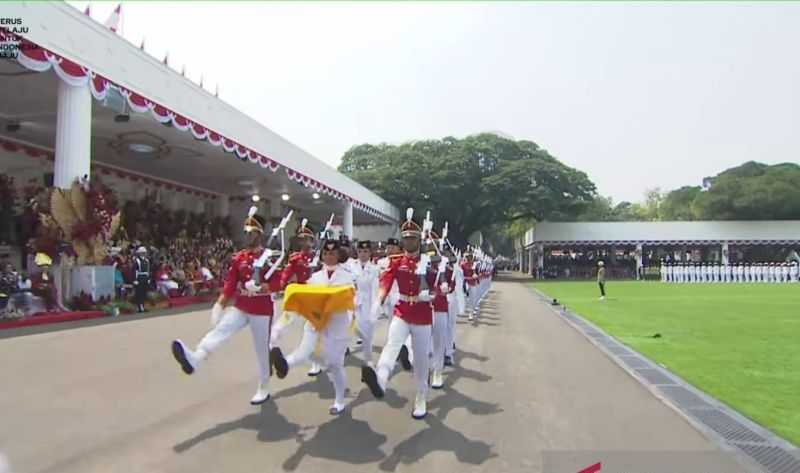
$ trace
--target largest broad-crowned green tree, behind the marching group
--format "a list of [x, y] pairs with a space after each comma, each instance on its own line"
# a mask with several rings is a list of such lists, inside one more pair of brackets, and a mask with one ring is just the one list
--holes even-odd
[[493, 134], [351, 148], [339, 171], [401, 209], [430, 210], [452, 241], [519, 220], [572, 220], [593, 202], [585, 173], [531, 141]]

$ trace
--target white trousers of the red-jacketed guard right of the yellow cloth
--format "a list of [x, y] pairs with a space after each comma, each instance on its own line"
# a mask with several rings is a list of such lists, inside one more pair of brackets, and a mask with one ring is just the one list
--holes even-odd
[[[381, 357], [378, 360], [377, 374], [378, 382], [385, 389], [389, 376], [394, 370], [394, 365], [397, 361], [397, 354], [400, 353], [400, 347], [403, 346], [406, 338], [411, 335], [411, 344], [414, 348], [413, 351], [417, 353], [430, 352], [431, 346], [431, 326], [430, 325], [412, 325], [406, 323], [400, 317], [392, 318], [389, 323], [389, 336], [386, 339], [386, 346], [381, 351]], [[428, 394], [428, 361], [427, 356], [420, 356], [414, 365], [414, 381], [417, 385], [417, 394], [427, 396]]]

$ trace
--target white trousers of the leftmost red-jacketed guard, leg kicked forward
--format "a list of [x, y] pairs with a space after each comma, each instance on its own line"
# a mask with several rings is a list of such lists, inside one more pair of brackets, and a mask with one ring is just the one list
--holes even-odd
[[197, 351], [200, 351], [201, 358], [204, 358], [203, 352], [205, 354], [213, 353], [225, 340], [244, 328], [245, 325], [249, 325], [250, 333], [253, 335], [253, 348], [256, 352], [258, 381], [267, 383], [269, 382], [269, 326], [271, 321], [272, 317], [270, 316], [251, 315], [236, 307], [226, 309], [222, 320], [197, 344]]

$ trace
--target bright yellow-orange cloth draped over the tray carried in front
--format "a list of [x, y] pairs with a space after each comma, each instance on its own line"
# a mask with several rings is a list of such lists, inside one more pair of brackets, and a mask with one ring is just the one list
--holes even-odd
[[328, 325], [334, 313], [353, 310], [354, 301], [355, 288], [352, 286], [289, 284], [283, 296], [283, 310], [299, 314], [320, 331]]

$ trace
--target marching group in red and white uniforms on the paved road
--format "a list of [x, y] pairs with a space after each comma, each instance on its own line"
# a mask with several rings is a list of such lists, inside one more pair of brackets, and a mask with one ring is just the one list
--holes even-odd
[[[285, 227], [292, 212], [266, 243], [265, 220], [250, 209], [244, 222], [246, 246], [238, 252], [211, 310], [211, 330], [194, 349], [180, 339], [172, 355], [186, 374], [194, 374], [228, 338], [250, 327], [256, 355], [257, 387], [250, 400], [270, 399], [270, 378], [308, 365], [309, 376], [327, 373], [335, 398], [332, 415], [346, 408], [345, 358], [351, 343], [361, 347], [361, 382], [383, 398], [398, 362], [412, 371], [416, 388], [412, 417], [427, 415], [428, 388], [444, 387], [445, 367], [456, 357], [456, 320], [480, 315], [488, 293], [493, 260], [479, 248], [464, 251], [433, 230], [428, 213], [419, 225], [406, 212], [400, 237], [373, 244], [359, 241], [355, 251], [346, 235], [331, 235], [333, 215], [317, 235], [302, 220], [289, 242]], [[288, 256], [287, 256], [288, 254]], [[390, 318], [385, 337], [376, 334], [379, 318]], [[295, 347], [281, 346], [283, 335], [303, 319]], [[374, 342], [385, 339], [377, 363]]]

